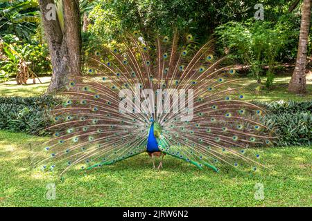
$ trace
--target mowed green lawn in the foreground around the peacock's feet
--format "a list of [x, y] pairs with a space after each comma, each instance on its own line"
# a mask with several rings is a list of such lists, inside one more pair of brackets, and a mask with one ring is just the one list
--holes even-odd
[[[266, 166], [255, 173], [214, 173], [171, 156], [155, 171], [141, 154], [87, 173], [72, 170], [60, 181], [31, 170], [30, 146], [46, 138], [0, 131], [0, 206], [311, 206], [311, 147], [261, 148]], [[251, 150], [255, 151], [255, 150]], [[48, 184], [56, 199], [47, 200]], [[263, 184], [263, 200], [255, 185]]]

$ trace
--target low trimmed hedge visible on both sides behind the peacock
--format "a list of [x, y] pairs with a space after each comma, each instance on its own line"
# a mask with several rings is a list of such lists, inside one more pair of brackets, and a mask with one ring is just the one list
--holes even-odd
[[[44, 128], [53, 122], [51, 109], [60, 99], [41, 97], [0, 97], [0, 129], [45, 135]], [[263, 122], [277, 136], [277, 146], [306, 146], [312, 144], [312, 102], [252, 102], [268, 110]]]

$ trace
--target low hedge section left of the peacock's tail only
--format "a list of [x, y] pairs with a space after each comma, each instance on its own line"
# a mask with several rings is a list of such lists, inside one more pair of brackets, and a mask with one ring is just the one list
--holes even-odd
[[0, 97], [0, 129], [44, 135], [52, 123], [49, 111], [57, 104], [60, 100], [51, 96]]

